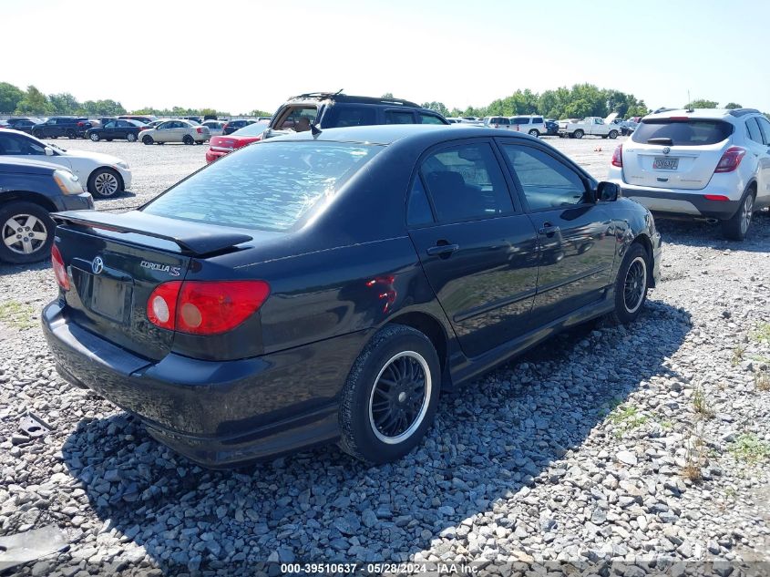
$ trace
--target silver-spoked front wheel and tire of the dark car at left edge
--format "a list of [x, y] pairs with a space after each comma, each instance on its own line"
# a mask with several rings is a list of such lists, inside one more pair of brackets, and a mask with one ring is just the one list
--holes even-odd
[[0, 261], [14, 264], [45, 260], [54, 242], [56, 224], [34, 202], [9, 202], [0, 208]]

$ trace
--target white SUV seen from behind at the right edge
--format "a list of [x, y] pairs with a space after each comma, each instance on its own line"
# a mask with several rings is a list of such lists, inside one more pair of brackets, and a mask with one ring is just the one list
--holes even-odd
[[669, 218], [722, 222], [743, 241], [770, 206], [770, 121], [754, 108], [667, 110], [642, 118], [612, 155], [623, 196]]

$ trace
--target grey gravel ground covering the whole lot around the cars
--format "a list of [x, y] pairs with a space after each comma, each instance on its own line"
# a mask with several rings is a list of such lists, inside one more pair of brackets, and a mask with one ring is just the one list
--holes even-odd
[[[615, 143], [549, 141], [606, 176]], [[132, 194], [99, 209], [146, 201], [205, 162], [205, 147], [57, 143], [128, 160]], [[37, 326], [53, 275], [0, 265], [0, 535], [54, 525], [70, 543], [9, 571], [338, 560], [768, 574], [770, 216], [744, 243], [704, 224], [659, 229], [662, 283], [634, 325], [560, 335], [445, 395], [425, 444], [372, 469], [334, 447], [238, 471], [192, 465], [56, 376]], [[50, 432], [27, 438], [27, 411]]]

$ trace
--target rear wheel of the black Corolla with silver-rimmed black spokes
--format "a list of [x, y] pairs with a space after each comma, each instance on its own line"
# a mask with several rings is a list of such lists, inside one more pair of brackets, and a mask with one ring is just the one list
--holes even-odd
[[340, 447], [380, 464], [417, 446], [436, 415], [441, 367], [436, 348], [416, 329], [387, 325], [355, 360], [340, 404]]

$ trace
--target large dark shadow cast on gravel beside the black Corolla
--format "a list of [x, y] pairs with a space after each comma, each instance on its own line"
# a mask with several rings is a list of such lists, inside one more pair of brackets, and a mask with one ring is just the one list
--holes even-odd
[[[521, 531], [526, 548], [541, 528], [519, 525], [518, 513], [549, 510], [528, 489], [590, 477], [596, 463], [574, 451], [601, 450], [601, 430], [587, 438], [607, 413], [652, 376], [673, 375], [667, 359], [690, 327], [686, 311], [651, 301], [633, 325], [559, 335], [444, 395], [424, 444], [381, 467], [326, 447], [247, 469], [200, 469], [126, 414], [82, 420], [62, 453], [102, 531], [141, 545], [166, 574], [250, 572], [268, 560], [406, 560], [426, 549], [440, 556], [455, 551], [471, 521], [493, 516]], [[498, 514], [496, 503], [514, 494]]]

